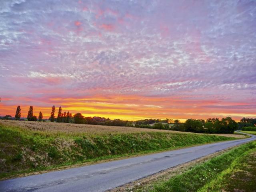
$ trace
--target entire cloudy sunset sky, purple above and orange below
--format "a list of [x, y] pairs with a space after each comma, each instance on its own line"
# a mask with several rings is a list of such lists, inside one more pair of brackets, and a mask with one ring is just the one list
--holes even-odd
[[256, 117], [255, 0], [0, 0], [0, 116]]

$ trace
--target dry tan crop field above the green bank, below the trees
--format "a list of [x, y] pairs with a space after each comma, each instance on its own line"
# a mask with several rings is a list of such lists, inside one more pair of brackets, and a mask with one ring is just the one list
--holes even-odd
[[[113, 134], [113, 133], [138, 133], [138, 132], [175, 132], [187, 133], [180, 131], [158, 130], [147, 128], [135, 127], [119, 127], [119, 126], [103, 126], [103, 125], [88, 125], [88, 124], [72, 124], [72, 123], [56, 123], [56, 122], [33, 122], [33, 121], [13, 121], [13, 120], [0, 120], [0, 123], [8, 126], [18, 126], [26, 130], [51, 132], [51, 133], [66, 133], [66, 134]], [[193, 133], [196, 134], [196, 133]], [[219, 136], [227, 136], [234, 138], [244, 138], [239, 134], [215, 134]]]

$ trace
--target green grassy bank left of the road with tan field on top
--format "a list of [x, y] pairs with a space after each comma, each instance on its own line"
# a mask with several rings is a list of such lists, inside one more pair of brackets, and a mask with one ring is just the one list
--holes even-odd
[[0, 178], [232, 139], [152, 129], [4, 120], [0, 121]]

